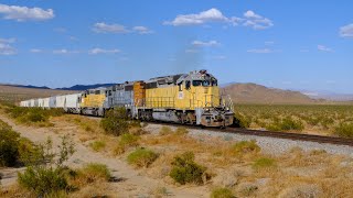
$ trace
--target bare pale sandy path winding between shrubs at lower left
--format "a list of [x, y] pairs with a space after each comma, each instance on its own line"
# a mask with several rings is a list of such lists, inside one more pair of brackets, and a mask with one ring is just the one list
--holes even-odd
[[[106, 164], [117, 183], [108, 183], [107, 188], [110, 195], [117, 197], [149, 197], [158, 188], [165, 187], [168, 193], [174, 197], [208, 197], [208, 189], [206, 187], [175, 187], [163, 183], [162, 180], [152, 179], [141, 174], [141, 170], [133, 169], [124, 160], [115, 158], [113, 156], [105, 156], [100, 153], [93, 152], [86, 147], [77, 138], [77, 125], [68, 122], [54, 122], [54, 128], [31, 128], [24, 125], [17, 125], [12, 120], [3, 114], [0, 119], [8, 122], [13, 130], [21, 133], [22, 136], [28, 138], [33, 142], [45, 142], [47, 138], [53, 140], [53, 145], [56, 147], [60, 143], [60, 138], [64, 134], [73, 136], [75, 142], [75, 154], [68, 161], [69, 167], [81, 167], [87, 163]], [[0, 169], [3, 174], [1, 180], [2, 186], [11, 186], [15, 184], [17, 173], [24, 168], [6, 168]]]

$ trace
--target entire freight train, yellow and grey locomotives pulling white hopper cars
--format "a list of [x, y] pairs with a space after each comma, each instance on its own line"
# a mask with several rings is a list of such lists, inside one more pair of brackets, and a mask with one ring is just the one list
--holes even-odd
[[20, 106], [97, 117], [120, 107], [131, 119], [201, 127], [225, 128], [234, 122], [232, 99], [221, 96], [217, 79], [205, 69], [30, 99]]

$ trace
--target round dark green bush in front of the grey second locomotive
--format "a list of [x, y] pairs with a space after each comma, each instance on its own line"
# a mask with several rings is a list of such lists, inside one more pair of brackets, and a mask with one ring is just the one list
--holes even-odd
[[100, 127], [107, 134], [119, 136], [128, 132], [129, 122], [127, 120], [125, 108], [117, 108], [105, 113], [105, 118], [100, 120]]

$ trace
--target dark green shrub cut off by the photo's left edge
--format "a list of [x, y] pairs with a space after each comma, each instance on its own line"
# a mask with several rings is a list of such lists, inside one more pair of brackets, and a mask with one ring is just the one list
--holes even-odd
[[0, 120], [0, 166], [14, 166], [19, 158], [20, 134]]

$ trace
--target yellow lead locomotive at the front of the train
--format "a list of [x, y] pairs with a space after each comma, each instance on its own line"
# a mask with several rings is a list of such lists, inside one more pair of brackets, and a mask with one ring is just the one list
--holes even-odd
[[233, 123], [232, 102], [220, 96], [217, 79], [206, 70], [151, 78], [133, 86], [137, 119], [204, 127]]

